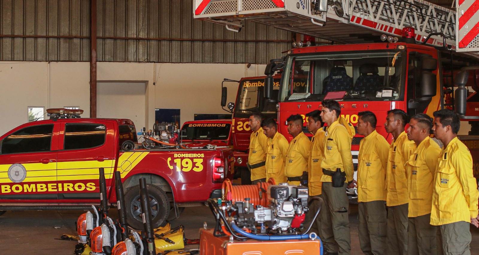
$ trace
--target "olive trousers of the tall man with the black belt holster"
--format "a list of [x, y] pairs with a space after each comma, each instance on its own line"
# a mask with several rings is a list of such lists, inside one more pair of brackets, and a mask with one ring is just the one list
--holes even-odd
[[349, 200], [346, 184], [342, 188], [332, 187], [331, 182], [323, 182], [321, 195], [324, 202], [321, 210], [321, 234], [325, 251], [349, 255], [351, 233], [349, 232]]

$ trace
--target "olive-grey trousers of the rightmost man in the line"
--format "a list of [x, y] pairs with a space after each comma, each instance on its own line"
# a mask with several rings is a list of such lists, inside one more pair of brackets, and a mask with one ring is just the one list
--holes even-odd
[[470, 255], [471, 232], [469, 222], [440, 225], [442, 248], [445, 255]]

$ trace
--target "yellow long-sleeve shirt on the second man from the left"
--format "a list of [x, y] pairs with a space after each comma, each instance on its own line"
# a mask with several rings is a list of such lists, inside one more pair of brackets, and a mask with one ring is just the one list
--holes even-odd
[[277, 132], [273, 138], [268, 139], [268, 152], [266, 153], [266, 180], [274, 178], [276, 184], [286, 182], [285, 162], [288, 151], [288, 140]]

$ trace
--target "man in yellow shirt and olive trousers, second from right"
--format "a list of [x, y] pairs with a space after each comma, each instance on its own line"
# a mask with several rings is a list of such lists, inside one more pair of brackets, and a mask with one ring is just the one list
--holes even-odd
[[441, 148], [429, 137], [433, 122], [427, 114], [414, 115], [409, 125], [408, 139], [414, 141], [417, 148], [406, 163], [409, 190], [408, 254], [436, 255], [438, 252], [441, 254], [437, 227], [429, 224], [433, 177]]

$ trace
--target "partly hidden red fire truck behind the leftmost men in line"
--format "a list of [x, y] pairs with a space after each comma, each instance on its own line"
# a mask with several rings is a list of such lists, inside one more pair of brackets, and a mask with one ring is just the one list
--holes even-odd
[[[235, 103], [228, 103], [227, 106], [227, 89], [222, 85], [221, 106], [225, 111], [233, 114], [233, 122], [231, 126], [231, 140], [233, 145], [233, 154], [235, 155], [235, 177], [241, 178], [241, 184], [251, 184], [251, 174], [246, 166], [248, 161], [248, 148], [250, 145], [251, 129], [249, 117], [252, 112], [261, 112], [265, 118], [277, 117], [276, 103], [271, 100], [264, 99], [264, 76], [262, 77], [246, 77], [239, 81], [225, 79], [225, 81], [239, 82], [238, 93]], [[281, 76], [273, 76], [273, 93], [278, 95], [279, 82]]]

